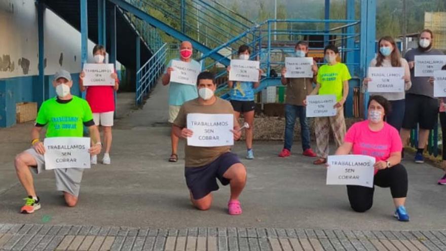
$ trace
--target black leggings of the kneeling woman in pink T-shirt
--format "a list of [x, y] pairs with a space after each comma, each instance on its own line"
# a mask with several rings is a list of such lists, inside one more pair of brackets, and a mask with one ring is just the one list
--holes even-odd
[[[407, 196], [407, 172], [403, 165], [398, 164], [378, 171], [374, 178], [374, 185], [382, 188], [390, 187], [392, 198]], [[374, 188], [362, 186], [347, 186], [350, 206], [357, 212], [365, 212], [373, 205]]]

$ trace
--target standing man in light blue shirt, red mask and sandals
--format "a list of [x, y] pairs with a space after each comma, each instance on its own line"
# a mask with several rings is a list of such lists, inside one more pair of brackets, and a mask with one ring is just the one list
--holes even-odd
[[[183, 41], [179, 48], [180, 58], [172, 59], [177, 61], [188, 62], [193, 65], [194, 68], [199, 68], [200, 63], [192, 59], [192, 44], [189, 41]], [[186, 85], [170, 81], [170, 73], [174, 70], [172, 65], [172, 60], [167, 64], [166, 70], [164, 72], [162, 82], [163, 85], [169, 85], [169, 123], [175, 121], [178, 115], [181, 105], [189, 100], [198, 97], [197, 87], [195, 85]], [[170, 134], [172, 141], [172, 154], [170, 155], [169, 162], [178, 161], [178, 140], [179, 138], [173, 134]]]

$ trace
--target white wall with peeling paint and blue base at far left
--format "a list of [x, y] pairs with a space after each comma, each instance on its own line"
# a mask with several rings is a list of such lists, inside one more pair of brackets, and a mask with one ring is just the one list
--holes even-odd
[[[72, 74], [72, 94], [80, 95], [81, 34], [51, 10], [44, 13], [45, 93], [39, 86], [37, 8], [33, 0], [0, 0], [0, 127], [15, 124], [15, 103], [55, 96], [52, 75], [64, 68]], [[88, 61], [93, 61], [88, 44]], [[121, 65], [117, 62], [117, 69]]]

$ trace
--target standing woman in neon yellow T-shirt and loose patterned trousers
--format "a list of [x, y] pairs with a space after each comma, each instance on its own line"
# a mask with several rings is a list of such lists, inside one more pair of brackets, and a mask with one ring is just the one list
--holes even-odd
[[334, 107], [336, 107], [337, 113], [332, 117], [315, 118], [316, 154], [318, 156], [318, 159], [313, 162], [315, 165], [320, 165], [327, 161], [330, 127], [333, 131], [336, 145], [339, 147], [344, 141], [346, 128], [343, 105], [348, 96], [348, 81], [351, 79], [347, 65], [336, 60], [339, 56], [339, 50], [336, 46], [326, 46], [324, 54], [328, 63], [319, 68], [316, 88], [313, 89], [310, 95], [335, 95], [337, 103]]

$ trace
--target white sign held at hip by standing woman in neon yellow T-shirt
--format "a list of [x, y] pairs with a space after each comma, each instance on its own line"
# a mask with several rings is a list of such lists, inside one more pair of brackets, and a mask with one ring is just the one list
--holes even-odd
[[336, 96], [310, 95], [307, 96], [307, 117], [331, 117], [336, 115]]

